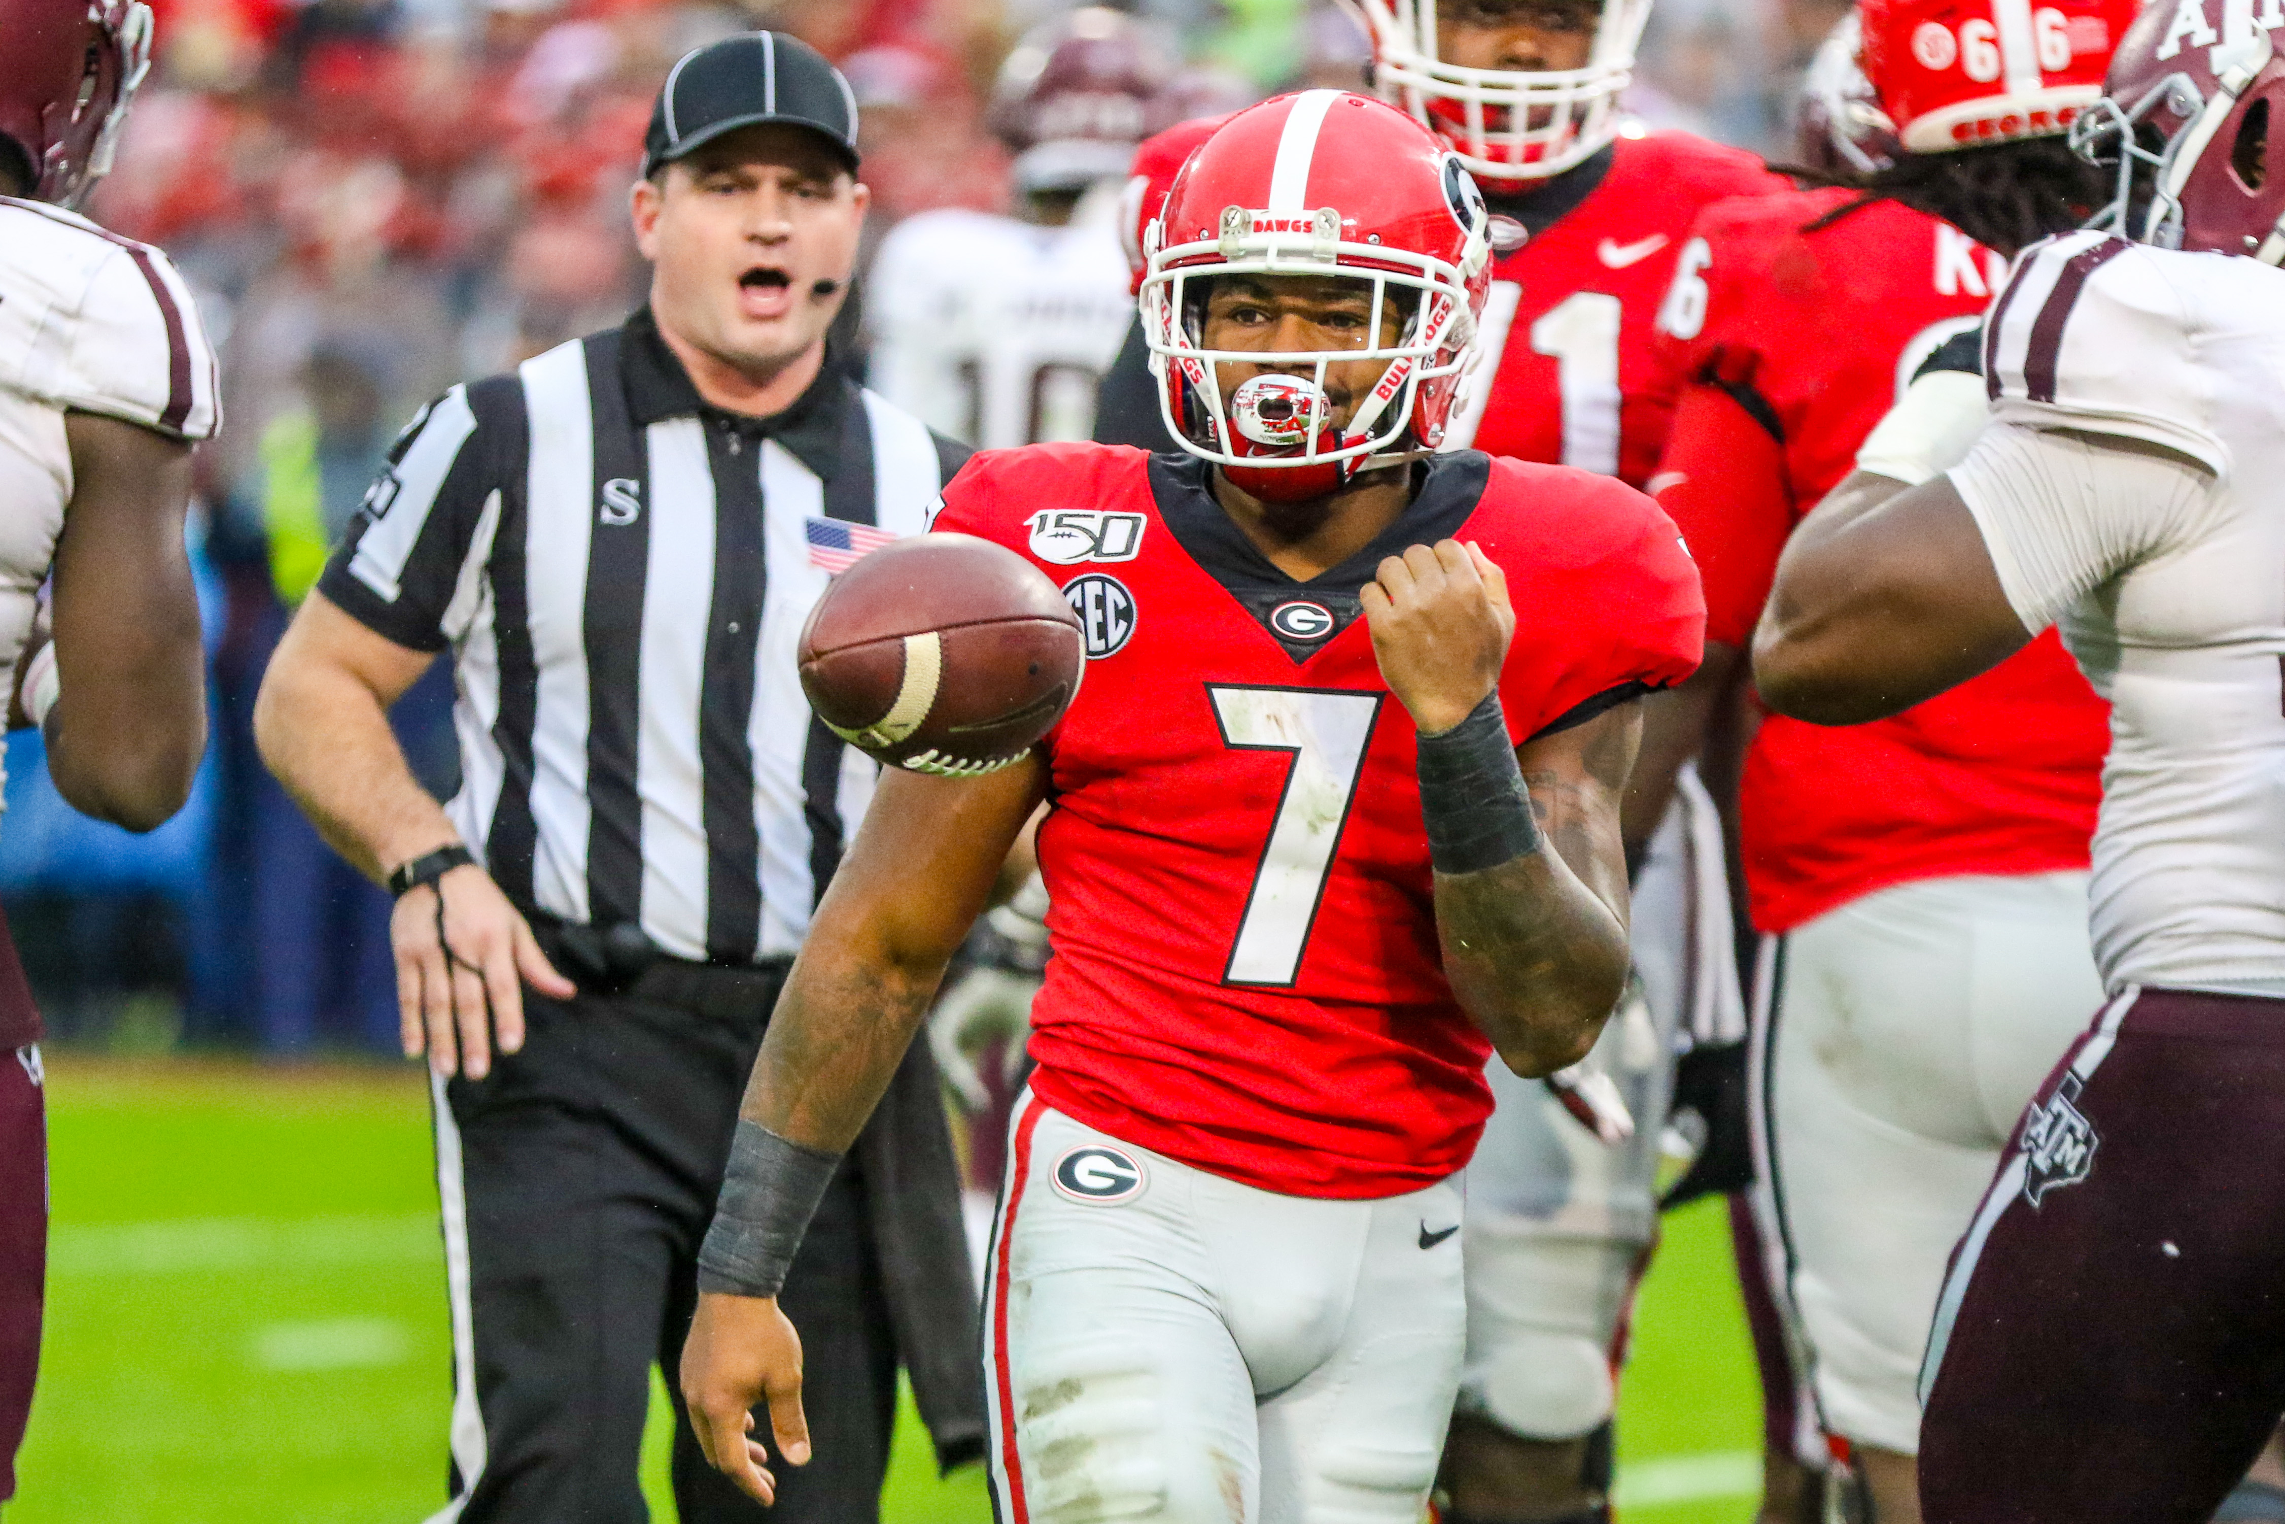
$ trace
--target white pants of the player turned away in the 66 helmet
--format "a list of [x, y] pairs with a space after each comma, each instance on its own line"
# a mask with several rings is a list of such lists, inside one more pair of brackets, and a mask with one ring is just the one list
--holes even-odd
[[2086, 873], [1869, 893], [1764, 939], [1757, 985], [1771, 1280], [1826, 1433], [1917, 1455], [1945, 1261], [2031, 1092], [2102, 1005]]

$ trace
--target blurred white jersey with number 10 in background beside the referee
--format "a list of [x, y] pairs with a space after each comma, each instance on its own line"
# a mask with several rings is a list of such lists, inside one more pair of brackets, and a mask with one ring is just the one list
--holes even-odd
[[1060, 228], [921, 212], [866, 279], [868, 384], [983, 450], [1088, 439], [1133, 313], [1115, 194], [1090, 194]]

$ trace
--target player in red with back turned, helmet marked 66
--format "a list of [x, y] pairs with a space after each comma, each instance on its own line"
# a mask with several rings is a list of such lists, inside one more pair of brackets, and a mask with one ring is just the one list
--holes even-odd
[[[1705, 573], [1709, 656], [1657, 706], [1650, 791], [1743, 676], [1794, 526], [1860, 462], [1922, 475], [1890, 430], [1867, 434], [1974, 334], [2006, 260], [2102, 199], [2061, 133], [2136, 5], [2015, 9], [1865, 0], [1874, 110], [1830, 117], [1892, 133], [1892, 162], [1716, 206], [1682, 249], [1659, 327], [1689, 386], [1659, 500]], [[1917, 386], [1981, 395], [1956, 370]], [[1743, 761], [1757, 1216], [1814, 1398], [1794, 1442], [1810, 1460], [1830, 1437], [1883, 1524], [1919, 1517], [1917, 1373], [1945, 1257], [2100, 1001], [2086, 861], [2107, 743], [2107, 706], [2050, 633], [1878, 724], [1773, 715]]]

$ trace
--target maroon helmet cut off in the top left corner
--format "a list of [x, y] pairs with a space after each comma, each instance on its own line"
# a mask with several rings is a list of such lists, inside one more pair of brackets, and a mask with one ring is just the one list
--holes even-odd
[[151, 69], [142, 0], [0, 0], [0, 139], [39, 201], [78, 203], [112, 167]]

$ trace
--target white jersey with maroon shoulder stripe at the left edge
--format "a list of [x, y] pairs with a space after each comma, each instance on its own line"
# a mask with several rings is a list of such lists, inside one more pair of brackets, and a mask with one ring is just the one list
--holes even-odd
[[222, 425], [215, 352], [165, 254], [0, 196], [0, 674], [71, 503], [71, 411], [208, 439]]

